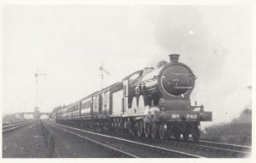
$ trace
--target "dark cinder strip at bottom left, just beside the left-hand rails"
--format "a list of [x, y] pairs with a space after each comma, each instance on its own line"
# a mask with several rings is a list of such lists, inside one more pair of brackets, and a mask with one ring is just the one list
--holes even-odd
[[47, 157], [44, 137], [38, 122], [3, 133], [3, 158]]

